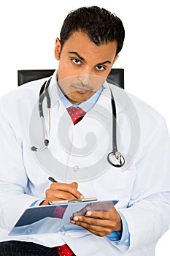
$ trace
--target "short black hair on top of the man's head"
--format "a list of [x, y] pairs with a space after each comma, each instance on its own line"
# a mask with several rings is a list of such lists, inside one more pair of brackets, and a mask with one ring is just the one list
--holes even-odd
[[117, 41], [117, 53], [123, 47], [125, 29], [123, 23], [114, 13], [100, 7], [81, 7], [69, 12], [61, 27], [61, 49], [64, 42], [75, 31], [87, 34], [96, 45]]

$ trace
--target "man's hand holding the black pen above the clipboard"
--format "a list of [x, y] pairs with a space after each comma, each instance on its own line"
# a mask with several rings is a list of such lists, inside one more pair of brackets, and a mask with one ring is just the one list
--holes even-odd
[[46, 190], [46, 199], [41, 203], [41, 206], [48, 205], [50, 201], [84, 198], [77, 188], [77, 182], [72, 182], [71, 184], [54, 182], [50, 185], [50, 188]]

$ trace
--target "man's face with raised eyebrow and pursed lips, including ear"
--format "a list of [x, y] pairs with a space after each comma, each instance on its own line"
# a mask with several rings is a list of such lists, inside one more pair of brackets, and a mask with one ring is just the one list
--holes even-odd
[[102, 86], [117, 59], [116, 50], [117, 42], [98, 46], [81, 31], [74, 32], [62, 49], [56, 39], [58, 85], [72, 104], [84, 102]]

